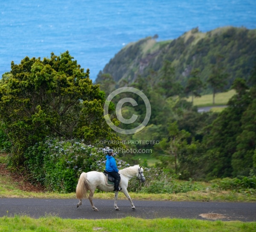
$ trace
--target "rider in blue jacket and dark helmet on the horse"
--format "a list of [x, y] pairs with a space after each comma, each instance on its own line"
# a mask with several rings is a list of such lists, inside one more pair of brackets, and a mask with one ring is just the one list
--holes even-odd
[[116, 160], [113, 157], [113, 150], [108, 149], [108, 155], [106, 156], [106, 168], [105, 170], [115, 178], [115, 191], [120, 191], [122, 188], [119, 188], [120, 176], [118, 174], [118, 169], [116, 167]]

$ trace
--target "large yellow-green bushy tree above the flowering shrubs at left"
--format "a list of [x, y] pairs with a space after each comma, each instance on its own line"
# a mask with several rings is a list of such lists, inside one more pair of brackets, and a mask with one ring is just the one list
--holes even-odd
[[29, 59], [0, 80], [0, 119], [12, 142], [13, 166], [23, 164], [27, 147], [46, 136], [82, 138], [93, 143], [96, 137], [112, 133], [103, 117], [103, 95], [84, 69], [66, 51], [60, 56]]

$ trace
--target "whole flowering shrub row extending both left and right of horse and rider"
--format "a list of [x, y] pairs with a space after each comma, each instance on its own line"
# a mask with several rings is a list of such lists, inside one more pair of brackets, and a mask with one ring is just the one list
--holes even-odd
[[[32, 181], [40, 182], [49, 191], [75, 192], [82, 172], [105, 169], [108, 147], [86, 145], [83, 141], [48, 139], [36, 143], [26, 151], [26, 168]], [[128, 167], [125, 161], [116, 158], [118, 169]], [[160, 168], [144, 167], [146, 182], [137, 178], [129, 181], [128, 191], [148, 193], [177, 193], [197, 190], [192, 180], [180, 183], [177, 176]]]

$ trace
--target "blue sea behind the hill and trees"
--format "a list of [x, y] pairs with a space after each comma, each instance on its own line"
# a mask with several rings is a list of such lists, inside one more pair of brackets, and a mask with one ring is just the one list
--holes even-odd
[[130, 42], [227, 25], [256, 28], [256, 0], [0, 0], [0, 77], [12, 60], [68, 50], [95, 80]]

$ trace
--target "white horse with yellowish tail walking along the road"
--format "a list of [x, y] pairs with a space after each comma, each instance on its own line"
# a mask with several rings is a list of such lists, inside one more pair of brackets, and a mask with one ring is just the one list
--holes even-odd
[[[121, 174], [120, 175], [121, 180], [119, 183], [119, 187], [122, 188], [121, 192], [123, 192], [125, 196], [128, 198], [128, 200], [130, 201], [131, 208], [135, 209], [135, 206], [132, 203], [131, 197], [129, 196], [127, 191], [128, 181], [131, 178], [136, 177], [142, 182], [145, 182], [145, 177], [143, 175], [143, 168], [140, 167], [139, 165], [134, 165], [133, 167], [127, 167], [125, 169], [119, 170], [119, 173]], [[108, 181], [106, 180], [106, 176], [104, 175], [104, 173], [100, 173], [96, 171], [81, 173], [78, 184], [76, 186], [76, 198], [80, 200], [79, 203], [77, 204], [77, 207], [79, 207], [82, 204], [82, 198], [87, 198], [87, 191], [90, 191], [90, 194], [89, 194], [90, 204], [95, 211], [98, 211], [98, 209], [93, 205], [93, 194], [96, 188], [103, 191], [113, 191], [114, 185], [108, 184]], [[117, 197], [118, 197], [118, 191], [115, 191], [114, 207], [116, 210], [119, 210], [119, 208], [116, 205]]]

